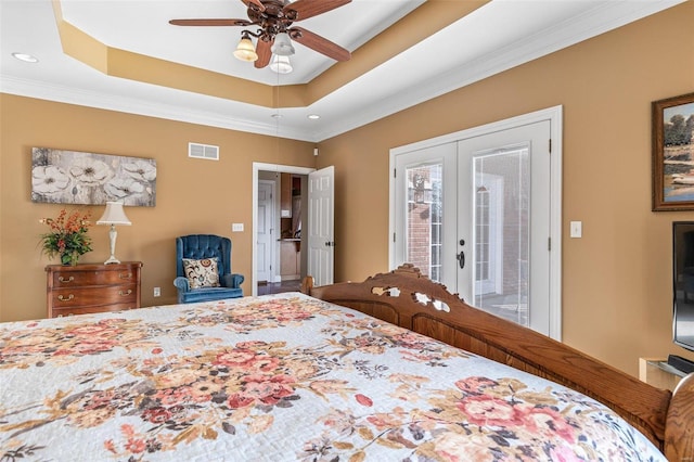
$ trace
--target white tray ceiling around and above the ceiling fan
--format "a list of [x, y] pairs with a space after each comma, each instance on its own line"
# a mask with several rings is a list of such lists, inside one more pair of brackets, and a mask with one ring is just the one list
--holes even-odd
[[[297, 25], [354, 51], [423, 1], [352, 0]], [[0, 0], [0, 91], [318, 142], [682, 1], [492, 0], [310, 106], [279, 110], [277, 118], [278, 110], [270, 107], [101, 74], [63, 53], [51, 0]], [[60, 4], [66, 22], [108, 47], [266, 85], [307, 84], [335, 63], [296, 44], [294, 72], [279, 76], [232, 56], [240, 27], [168, 24], [246, 18], [241, 0]], [[39, 63], [17, 61], [13, 52], [29, 53]], [[321, 118], [308, 119], [309, 114]]]

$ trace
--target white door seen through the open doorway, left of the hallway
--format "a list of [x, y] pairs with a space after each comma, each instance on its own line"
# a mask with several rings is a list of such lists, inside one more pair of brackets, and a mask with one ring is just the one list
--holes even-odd
[[258, 227], [256, 229], [256, 268], [258, 281], [274, 281], [274, 190], [277, 183], [258, 181]]

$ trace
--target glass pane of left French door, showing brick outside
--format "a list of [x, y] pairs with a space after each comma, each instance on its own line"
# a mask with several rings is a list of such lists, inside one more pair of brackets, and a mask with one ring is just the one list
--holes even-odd
[[407, 260], [433, 281], [441, 280], [442, 164], [407, 168]]

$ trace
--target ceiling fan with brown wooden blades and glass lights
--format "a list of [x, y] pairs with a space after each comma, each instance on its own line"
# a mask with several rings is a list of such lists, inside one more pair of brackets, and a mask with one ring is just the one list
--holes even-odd
[[[270, 63], [272, 54], [294, 54], [292, 40], [336, 61], [348, 61], [351, 53], [340, 46], [293, 24], [338, 7], [351, 0], [241, 0], [248, 7], [248, 20], [171, 20], [175, 26], [258, 26], [255, 31], [244, 29], [234, 55], [243, 61], [254, 61], [257, 68]], [[249, 36], [258, 39], [253, 48]]]

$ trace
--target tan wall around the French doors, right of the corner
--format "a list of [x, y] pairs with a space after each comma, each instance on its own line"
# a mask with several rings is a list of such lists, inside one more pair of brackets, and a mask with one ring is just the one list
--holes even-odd
[[651, 211], [651, 102], [694, 91], [693, 20], [686, 2], [322, 142], [336, 279], [388, 269], [389, 149], [561, 104], [564, 341], [632, 374], [640, 356], [694, 358], [671, 344], [670, 282], [671, 222], [694, 211]]

